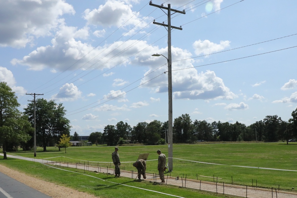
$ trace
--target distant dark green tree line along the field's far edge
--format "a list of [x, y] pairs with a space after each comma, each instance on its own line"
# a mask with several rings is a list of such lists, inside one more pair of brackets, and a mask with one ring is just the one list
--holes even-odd
[[[168, 121], [162, 123], [154, 120], [150, 123], [140, 122], [131, 127], [120, 121], [108, 125], [104, 132], [93, 132], [89, 141], [99, 144], [118, 145], [140, 143], [146, 145], [165, 144], [167, 138]], [[174, 143], [197, 142], [233, 142], [233, 141], [286, 141], [297, 136], [297, 109], [292, 112], [289, 121], [283, 121], [277, 115], [267, 115], [263, 120], [246, 126], [243, 123], [229, 123], [214, 121], [208, 123], [203, 120], [192, 121], [189, 114], [182, 114], [173, 122]]]

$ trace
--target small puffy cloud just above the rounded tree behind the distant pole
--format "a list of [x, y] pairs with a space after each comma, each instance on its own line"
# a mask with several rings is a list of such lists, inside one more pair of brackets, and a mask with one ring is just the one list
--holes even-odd
[[59, 93], [52, 96], [52, 98], [59, 102], [74, 101], [78, 98], [81, 98], [81, 94], [82, 92], [79, 91], [77, 86], [75, 86], [73, 83], [66, 83], [60, 88]]

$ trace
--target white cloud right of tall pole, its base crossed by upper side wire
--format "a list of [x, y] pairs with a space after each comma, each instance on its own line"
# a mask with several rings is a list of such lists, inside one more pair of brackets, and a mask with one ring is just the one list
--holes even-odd
[[195, 41], [193, 44], [193, 47], [195, 49], [195, 54], [200, 55], [208, 55], [211, 53], [219, 52], [224, 50], [227, 47], [230, 47], [230, 41], [220, 41], [219, 44], [210, 42], [209, 40], [201, 41], [200, 39], [198, 41]]

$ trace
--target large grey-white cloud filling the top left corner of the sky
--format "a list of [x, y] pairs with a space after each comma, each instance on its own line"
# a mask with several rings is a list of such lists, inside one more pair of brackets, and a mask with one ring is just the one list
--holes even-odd
[[63, 23], [60, 17], [75, 11], [64, 0], [1, 1], [0, 13], [0, 46], [19, 48], [51, 35]]

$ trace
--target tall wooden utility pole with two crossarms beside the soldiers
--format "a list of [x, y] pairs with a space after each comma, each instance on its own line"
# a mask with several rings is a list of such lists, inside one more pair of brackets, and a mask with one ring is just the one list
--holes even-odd
[[[173, 121], [172, 121], [172, 58], [171, 58], [171, 29], [175, 28], [178, 30], [182, 30], [181, 26], [180, 27], [175, 27], [175, 26], [171, 26], [171, 11], [173, 11], [174, 13], [178, 12], [181, 14], [186, 14], [186, 12], [183, 11], [179, 11], [176, 9], [171, 9], [170, 8], [170, 4], [168, 4], [168, 7], [164, 7], [163, 4], [156, 5], [156, 4], [152, 4], [152, 2], [149, 2], [149, 5], [154, 6], [154, 7], [158, 7], [160, 9], [167, 9], [168, 13], [168, 25], [163, 23], [157, 23], [154, 20], [154, 24], [160, 25], [160, 26], [165, 26], [167, 27], [168, 30], [168, 169], [169, 171], [173, 170]], [[163, 10], [162, 10], [163, 11]], [[163, 11], [164, 12], [164, 11]], [[174, 14], [173, 13], [173, 14]], [[166, 12], [165, 12], [166, 14]]]

